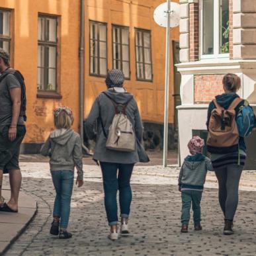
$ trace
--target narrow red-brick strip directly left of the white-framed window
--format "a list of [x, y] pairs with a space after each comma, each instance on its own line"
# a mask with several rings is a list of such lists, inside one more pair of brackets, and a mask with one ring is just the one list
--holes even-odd
[[190, 26], [190, 61], [199, 60], [199, 4], [191, 3], [189, 5], [189, 26]]

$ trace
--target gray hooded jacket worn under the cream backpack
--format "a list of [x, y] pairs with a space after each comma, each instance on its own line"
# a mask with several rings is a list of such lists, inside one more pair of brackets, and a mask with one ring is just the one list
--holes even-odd
[[[132, 99], [126, 107], [126, 114], [130, 122], [132, 122], [136, 137], [141, 141], [143, 132], [142, 120], [133, 95], [127, 93], [122, 88], [115, 88], [115, 90], [108, 89], [105, 93], [107, 93], [111, 99], [116, 101], [116, 103], [120, 103], [122, 105]], [[103, 133], [100, 116], [102, 118], [105, 131], [108, 132], [108, 128], [112, 124], [114, 114], [115, 108], [112, 101], [110, 101], [105, 94], [101, 93], [93, 103], [91, 112], [89, 113], [87, 120], [85, 120], [85, 132], [90, 139], [95, 138], [94, 127], [97, 123], [97, 139], [93, 159], [108, 163], [137, 163], [139, 161], [137, 145], [133, 152], [120, 152], [106, 148], [107, 138], [105, 138]]]

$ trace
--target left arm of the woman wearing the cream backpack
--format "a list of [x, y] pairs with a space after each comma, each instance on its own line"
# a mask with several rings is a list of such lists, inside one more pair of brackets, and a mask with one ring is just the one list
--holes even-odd
[[89, 116], [85, 120], [85, 133], [87, 134], [90, 140], [93, 140], [95, 138], [94, 127], [97, 119], [99, 118], [99, 114], [100, 114], [99, 97], [97, 97], [97, 99], [93, 103], [93, 107], [91, 107]]

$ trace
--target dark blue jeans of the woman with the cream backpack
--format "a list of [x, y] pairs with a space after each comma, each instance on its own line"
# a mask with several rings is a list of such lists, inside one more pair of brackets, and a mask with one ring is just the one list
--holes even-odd
[[[101, 162], [103, 173], [103, 187], [105, 192], [105, 208], [107, 212], [108, 224], [110, 226], [118, 224], [118, 210], [116, 194], [119, 190], [120, 216], [128, 218], [130, 205], [132, 203], [132, 189], [130, 179], [134, 164], [105, 163]], [[117, 175], [118, 172], [118, 175]]]

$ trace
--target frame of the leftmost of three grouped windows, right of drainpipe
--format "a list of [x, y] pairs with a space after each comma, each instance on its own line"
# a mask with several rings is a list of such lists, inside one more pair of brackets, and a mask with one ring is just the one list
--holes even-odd
[[[95, 24], [103, 24], [106, 28], [106, 41], [99, 40], [99, 26], [97, 26], [97, 57], [91, 56], [91, 40], [94, 40], [91, 38], [91, 23]], [[106, 43], [106, 58], [100, 57], [100, 42]], [[97, 58], [97, 74], [91, 73], [91, 58]], [[102, 22], [102, 21], [93, 21], [89, 20], [89, 75], [93, 77], [106, 77], [106, 75], [101, 75], [101, 69], [100, 69], [100, 60], [105, 59], [107, 64], [107, 71], [108, 71], [108, 23]]]

